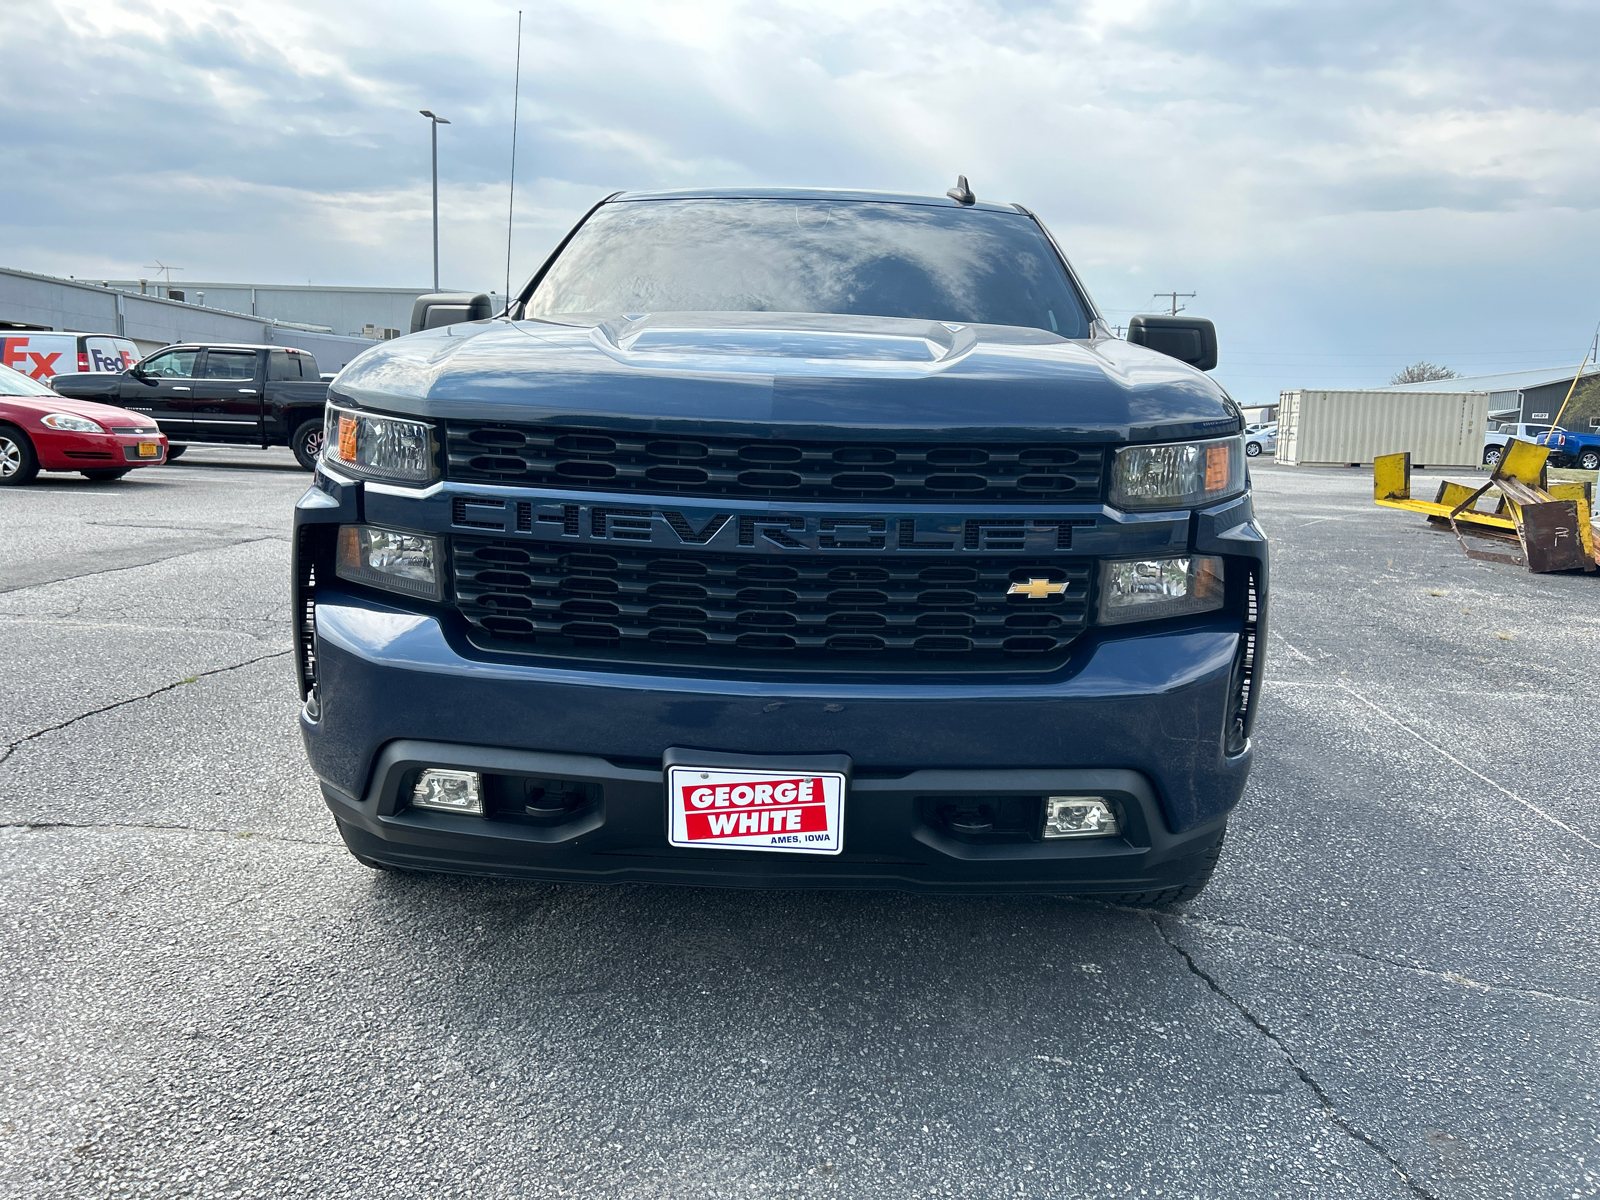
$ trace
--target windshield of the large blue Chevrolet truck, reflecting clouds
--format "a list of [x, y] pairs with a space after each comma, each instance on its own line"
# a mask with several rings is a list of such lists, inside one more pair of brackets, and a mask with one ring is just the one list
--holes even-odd
[[603, 205], [526, 307], [576, 312], [811, 312], [1088, 336], [1059, 256], [1022, 213], [859, 200]]

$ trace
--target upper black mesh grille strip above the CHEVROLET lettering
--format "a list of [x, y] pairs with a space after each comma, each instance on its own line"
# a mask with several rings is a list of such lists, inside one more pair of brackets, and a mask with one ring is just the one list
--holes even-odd
[[741, 442], [451, 422], [450, 478], [686, 496], [1101, 499], [1104, 451], [1027, 442]]

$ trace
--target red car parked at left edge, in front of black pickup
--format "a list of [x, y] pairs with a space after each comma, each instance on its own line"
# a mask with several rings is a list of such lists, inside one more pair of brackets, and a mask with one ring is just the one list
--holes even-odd
[[30, 483], [40, 470], [77, 470], [104, 482], [165, 461], [166, 435], [150, 418], [69, 400], [0, 366], [0, 486]]

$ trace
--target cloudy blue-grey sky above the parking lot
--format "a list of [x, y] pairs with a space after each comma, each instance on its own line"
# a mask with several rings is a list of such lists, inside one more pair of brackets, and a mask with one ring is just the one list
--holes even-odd
[[[0, 266], [506, 274], [517, 0], [0, 2]], [[1592, 0], [523, 0], [525, 277], [618, 189], [1045, 219], [1110, 320], [1194, 291], [1242, 400], [1576, 365], [1600, 322]]]

